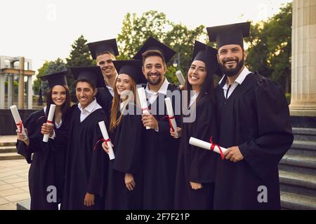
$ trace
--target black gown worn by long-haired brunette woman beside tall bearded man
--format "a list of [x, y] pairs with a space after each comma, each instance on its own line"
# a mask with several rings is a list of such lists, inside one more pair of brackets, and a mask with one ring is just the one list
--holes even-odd
[[[178, 168], [176, 176], [175, 209], [213, 209], [214, 181], [217, 153], [191, 146], [190, 137], [203, 141], [218, 141], [216, 111], [207, 95], [196, 102], [196, 118], [193, 123], [183, 123], [180, 137]], [[192, 112], [193, 113], [193, 112]], [[193, 190], [190, 181], [202, 183], [202, 188]]]

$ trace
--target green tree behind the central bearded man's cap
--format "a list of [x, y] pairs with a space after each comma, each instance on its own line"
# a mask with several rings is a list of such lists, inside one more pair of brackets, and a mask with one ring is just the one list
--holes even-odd
[[[167, 20], [166, 14], [155, 10], [145, 12], [139, 18], [135, 13], [127, 13], [117, 37], [120, 52], [118, 59], [133, 57], [145, 40], [152, 36], [180, 53], [180, 69], [185, 74], [190, 65], [194, 41], [204, 34], [203, 29], [203, 26], [188, 29], [185, 25], [175, 24]], [[167, 64], [166, 77], [171, 83], [177, 83], [176, 68], [172, 64], [173, 59]]]

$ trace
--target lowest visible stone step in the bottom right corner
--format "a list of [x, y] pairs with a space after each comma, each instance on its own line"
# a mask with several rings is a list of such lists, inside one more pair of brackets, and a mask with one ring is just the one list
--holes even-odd
[[316, 198], [281, 192], [281, 207], [294, 210], [316, 210]]

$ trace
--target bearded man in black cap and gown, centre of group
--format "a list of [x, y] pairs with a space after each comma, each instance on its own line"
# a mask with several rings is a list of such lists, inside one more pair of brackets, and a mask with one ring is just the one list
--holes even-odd
[[[144, 136], [143, 209], [173, 209], [179, 140], [170, 135], [164, 99], [171, 98], [180, 123], [180, 90], [166, 80], [166, 62], [175, 51], [150, 37], [135, 55], [143, 59], [145, 92], [150, 115], [143, 114]], [[175, 106], [177, 105], [177, 106]]]

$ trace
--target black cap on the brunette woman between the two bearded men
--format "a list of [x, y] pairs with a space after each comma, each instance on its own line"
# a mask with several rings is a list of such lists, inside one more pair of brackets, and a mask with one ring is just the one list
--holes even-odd
[[195, 41], [192, 62], [196, 60], [204, 62], [209, 73], [216, 73], [216, 75], [221, 76], [217, 59], [217, 50], [215, 48], [211, 48], [204, 43]]

